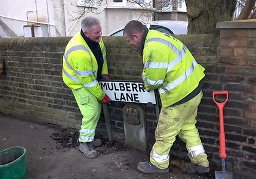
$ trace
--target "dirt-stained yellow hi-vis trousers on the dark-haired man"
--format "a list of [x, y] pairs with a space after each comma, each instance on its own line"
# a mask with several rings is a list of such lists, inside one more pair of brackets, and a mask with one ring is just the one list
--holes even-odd
[[178, 135], [186, 143], [193, 164], [209, 167], [209, 162], [198, 129], [196, 115], [203, 93], [181, 105], [162, 108], [155, 131], [156, 142], [150, 153], [150, 162], [160, 169], [169, 167], [169, 152]]

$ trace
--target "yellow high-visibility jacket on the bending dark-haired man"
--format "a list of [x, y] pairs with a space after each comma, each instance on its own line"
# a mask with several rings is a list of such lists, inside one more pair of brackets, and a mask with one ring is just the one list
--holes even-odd
[[147, 33], [143, 64], [146, 90], [158, 89], [164, 108], [189, 95], [205, 76], [205, 68], [180, 40], [156, 30]]

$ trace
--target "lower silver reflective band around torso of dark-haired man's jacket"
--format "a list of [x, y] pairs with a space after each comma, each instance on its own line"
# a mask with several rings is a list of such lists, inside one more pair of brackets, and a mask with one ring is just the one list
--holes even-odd
[[192, 65], [189, 67], [189, 69], [187, 69], [187, 71], [182, 76], [178, 77], [176, 80], [172, 81], [172, 83], [168, 84], [167, 86], [165, 86], [161, 89], [158, 89], [159, 93], [162, 94], [162, 93], [168, 92], [168, 91], [174, 89], [175, 87], [177, 87], [179, 84], [183, 83], [183, 81], [185, 81], [186, 78], [189, 77], [193, 73], [197, 64], [198, 63], [194, 59], [192, 61]]

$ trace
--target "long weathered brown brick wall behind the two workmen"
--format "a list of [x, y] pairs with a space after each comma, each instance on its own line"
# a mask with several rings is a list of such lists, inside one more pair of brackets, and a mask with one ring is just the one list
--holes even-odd
[[[242, 25], [241, 25], [242, 27]], [[244, 27], [244, 26], [243, 26]], [[249, 28], [249, 27], [248, 27]], [[227, 167], [236, 176], [250, 178], [256, 169], [256, 29], [221, 29], [213, 34], [176, 35], [199, 63], [206, 68], [204, 97], [199, 106], [198, 123], [211, 163], [218, 157], [218, 109], [213, 90], [229, 90], [224, 108], [227, 139]], [[0, 112], [29, 120], [79, 128], [81, 114], [71, 91], [61, 80], [61, 61], [69, 37], [14, 38], [0, 40], [0, 58], [5, 59], [0, 76]], [[122, 37], [104, 37], [112, 79], [140, 80], [141, 56]], [[122, 108], [109, 106], [116, 140], [124, 140]], [[154, 143], [155, 109], [144, 106], [149, 146]], [[106, 134], [101, 115], [98, 134]], [[186, 147], [177, 139], [172, 155], [186, 158]]]

